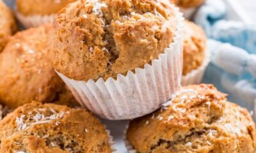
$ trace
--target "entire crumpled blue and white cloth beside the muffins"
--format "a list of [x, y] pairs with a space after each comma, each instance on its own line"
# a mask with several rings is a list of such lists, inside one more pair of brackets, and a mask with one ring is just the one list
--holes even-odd
[[[208, 38], [211, 64], [203, 82], [229, 94], [230, 101], [253, 110], [256, 103], [256, 27], [227, 20], [221, 0], [208, 0], [194, 16]], [[225, 19], [224, 19], [225, 18]], [[256, 110], [256, 106], [255, 106]]]

